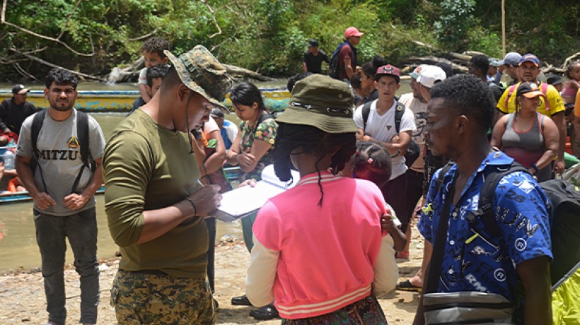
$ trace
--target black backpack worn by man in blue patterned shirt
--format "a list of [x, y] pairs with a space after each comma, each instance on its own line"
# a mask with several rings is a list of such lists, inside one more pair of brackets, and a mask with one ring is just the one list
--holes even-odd
[[[452, 165], [452, 162], [448, 163], [439, 172], [436, 181], [437, 192], [441, 190], [443, 176]], [[489, 168], [487, 167], [486, 170]], [[504, 247], [501, 228], [494, 218], [492, 199], [501, 178], [516, 171], [528, 172], [526, 167], [517, 162], [513, 162], [511, 165], [497, 166], [496, 170], [489, 171], [480, 192], [479, 209], [466, 217], [470, 223], [480, 218], [489, 233], [493, 237], [499, 238], [500, 244]], [[540, 182], [540, 187], [552, 203], [550, 237], [554, 259], [550, 264], [550, 280], [552, 285], [555, 285], [580, 261], [580, 188], [562, 179]]]

